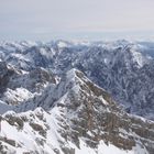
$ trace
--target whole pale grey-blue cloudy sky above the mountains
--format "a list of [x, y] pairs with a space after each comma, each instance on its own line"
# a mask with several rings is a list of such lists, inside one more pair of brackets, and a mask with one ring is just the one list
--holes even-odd
[[153, 37], [154, 0], [0, 0], [0, 40]]

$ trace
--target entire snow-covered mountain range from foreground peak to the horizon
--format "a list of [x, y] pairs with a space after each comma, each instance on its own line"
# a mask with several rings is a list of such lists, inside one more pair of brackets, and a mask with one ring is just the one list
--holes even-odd
[[153, 154], [154, 43], [1, 42], [2, 154]]

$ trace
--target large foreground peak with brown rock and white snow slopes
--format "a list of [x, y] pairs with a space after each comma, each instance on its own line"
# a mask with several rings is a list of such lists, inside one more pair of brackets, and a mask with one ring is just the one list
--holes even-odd
[[3, 153], [154, 152], [154, 123], [125, 113], [107, 91], [77, 69], [14, 111], [19, 113], [2, 116], [2, 125], [8, 128], [1, 131]]

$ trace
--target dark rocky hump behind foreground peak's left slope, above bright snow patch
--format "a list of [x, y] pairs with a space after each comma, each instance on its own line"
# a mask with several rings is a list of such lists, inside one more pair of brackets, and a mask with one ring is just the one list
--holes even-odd
[[21, 74], [12, 78], [8, 87], [11, 89], [23, 87], [31, 92], [38, 92], [48, 82], [56, 84], [55, 75], [52, 72], [37, 67], [26, 74]]

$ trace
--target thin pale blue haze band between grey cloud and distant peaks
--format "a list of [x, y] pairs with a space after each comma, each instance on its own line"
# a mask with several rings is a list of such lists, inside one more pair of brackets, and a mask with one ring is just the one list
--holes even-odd
[[0, 41], [52, 41], [52, 40], [154, 40], [153, 31], [82, 31], [82, 32], [46, 32], [1, 34]]

